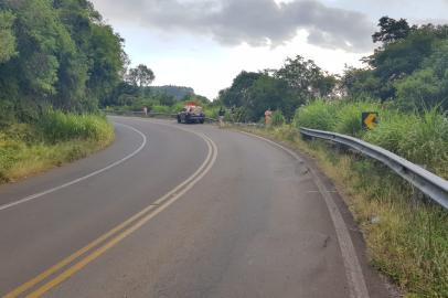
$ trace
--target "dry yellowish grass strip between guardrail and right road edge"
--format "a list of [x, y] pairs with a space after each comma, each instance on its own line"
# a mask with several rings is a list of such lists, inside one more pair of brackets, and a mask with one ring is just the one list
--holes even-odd
[[303, 141], [290, 126], [238, 129], [314, 158], [363, 231], [371, 264], [406, 297], [448, 297], [448, 212], [419, 198], [385, 167], [322, 141]]

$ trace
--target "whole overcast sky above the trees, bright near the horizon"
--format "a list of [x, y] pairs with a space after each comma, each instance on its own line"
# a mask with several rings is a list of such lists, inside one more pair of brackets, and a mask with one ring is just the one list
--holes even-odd
[[242, 71], [312, 58], [331, 73], [360, 66], [382, 15], [448, 23], [448, 0], [92, 0], [153, 85], [215, 98]]

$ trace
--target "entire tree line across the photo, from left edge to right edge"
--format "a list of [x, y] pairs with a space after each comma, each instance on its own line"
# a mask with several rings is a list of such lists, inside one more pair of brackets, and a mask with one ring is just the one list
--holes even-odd
[[[246, 121], [259, 120], [267, 108], [289, 120], [318, 97], [447, 110], [448, 25], [383, 17], [378, 29], [372, 35], [378, 46], [363, 58], [364, 67], [333, 75], [298, 55], [278, 70], [243, 71], [213, 105], [232, 107]], [[0, 0], [0, 126], [31, 121], [49, 107], [84, 113], [98, 106], [172, 106], [194, 94], [186, 87], [150, 87], [153, 72], [128, 65], [124, 39], [89, 1]]]

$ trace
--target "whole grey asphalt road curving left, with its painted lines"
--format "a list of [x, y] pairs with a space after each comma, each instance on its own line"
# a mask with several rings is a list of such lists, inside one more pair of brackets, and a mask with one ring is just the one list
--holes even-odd
[[111, 120], [106, 150], [0, 188], [1, 296], [390, 296], [312, 161], [213, 126]]

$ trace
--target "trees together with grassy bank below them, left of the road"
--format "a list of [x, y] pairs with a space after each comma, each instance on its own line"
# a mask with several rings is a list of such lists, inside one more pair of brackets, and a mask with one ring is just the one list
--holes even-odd
[[121, 82], [122, 39], [88, 1], [0, 2], [0, 183], [114, 139], [98, 105]]

